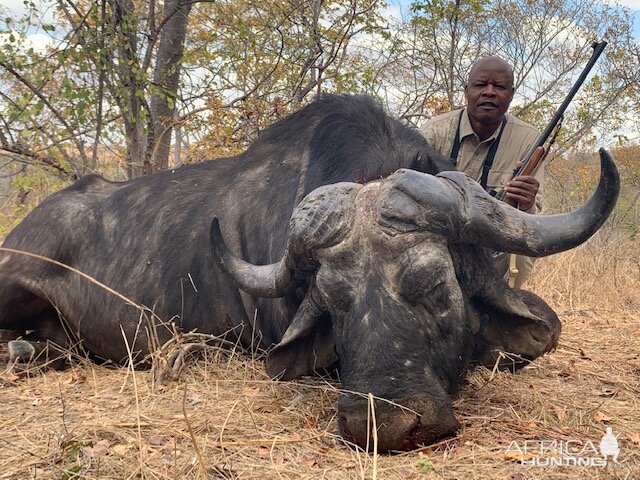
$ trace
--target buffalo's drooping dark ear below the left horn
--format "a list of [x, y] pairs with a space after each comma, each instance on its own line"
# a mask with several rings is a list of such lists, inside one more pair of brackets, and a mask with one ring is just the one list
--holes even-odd
[[316, 296], [312, 285], [282, 340], [267, 355], [271, 378], [293, 380], [338, 361], [329, 314]]

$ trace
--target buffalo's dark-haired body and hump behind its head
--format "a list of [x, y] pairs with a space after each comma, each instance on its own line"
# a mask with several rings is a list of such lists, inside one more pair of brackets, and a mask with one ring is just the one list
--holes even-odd
[[[326, 95], [265, 130], [237, 157], [121, 183], [84, 177], [43, 201], [3, 246], [69, 265], [152, 309], [161, 342], [173, 322], [185, 331], [232, 330], [243, 345], [267, 348], [282, 338], [305, 288], [278, 300], [240, 293], [211, 258], [211, 217], [221, 219], [238, 254], [274, 262], [291, 212], [307, 193], [400, 167], [452, 168], [371, 98]], [[61, 345], [80, 339], [93, 355], [120, 362], [127, 357], [123, 333], [134, 352], [149, 352], [147, 323], [135, 306], [77, 273], [0, 252], [0, 329]]]

